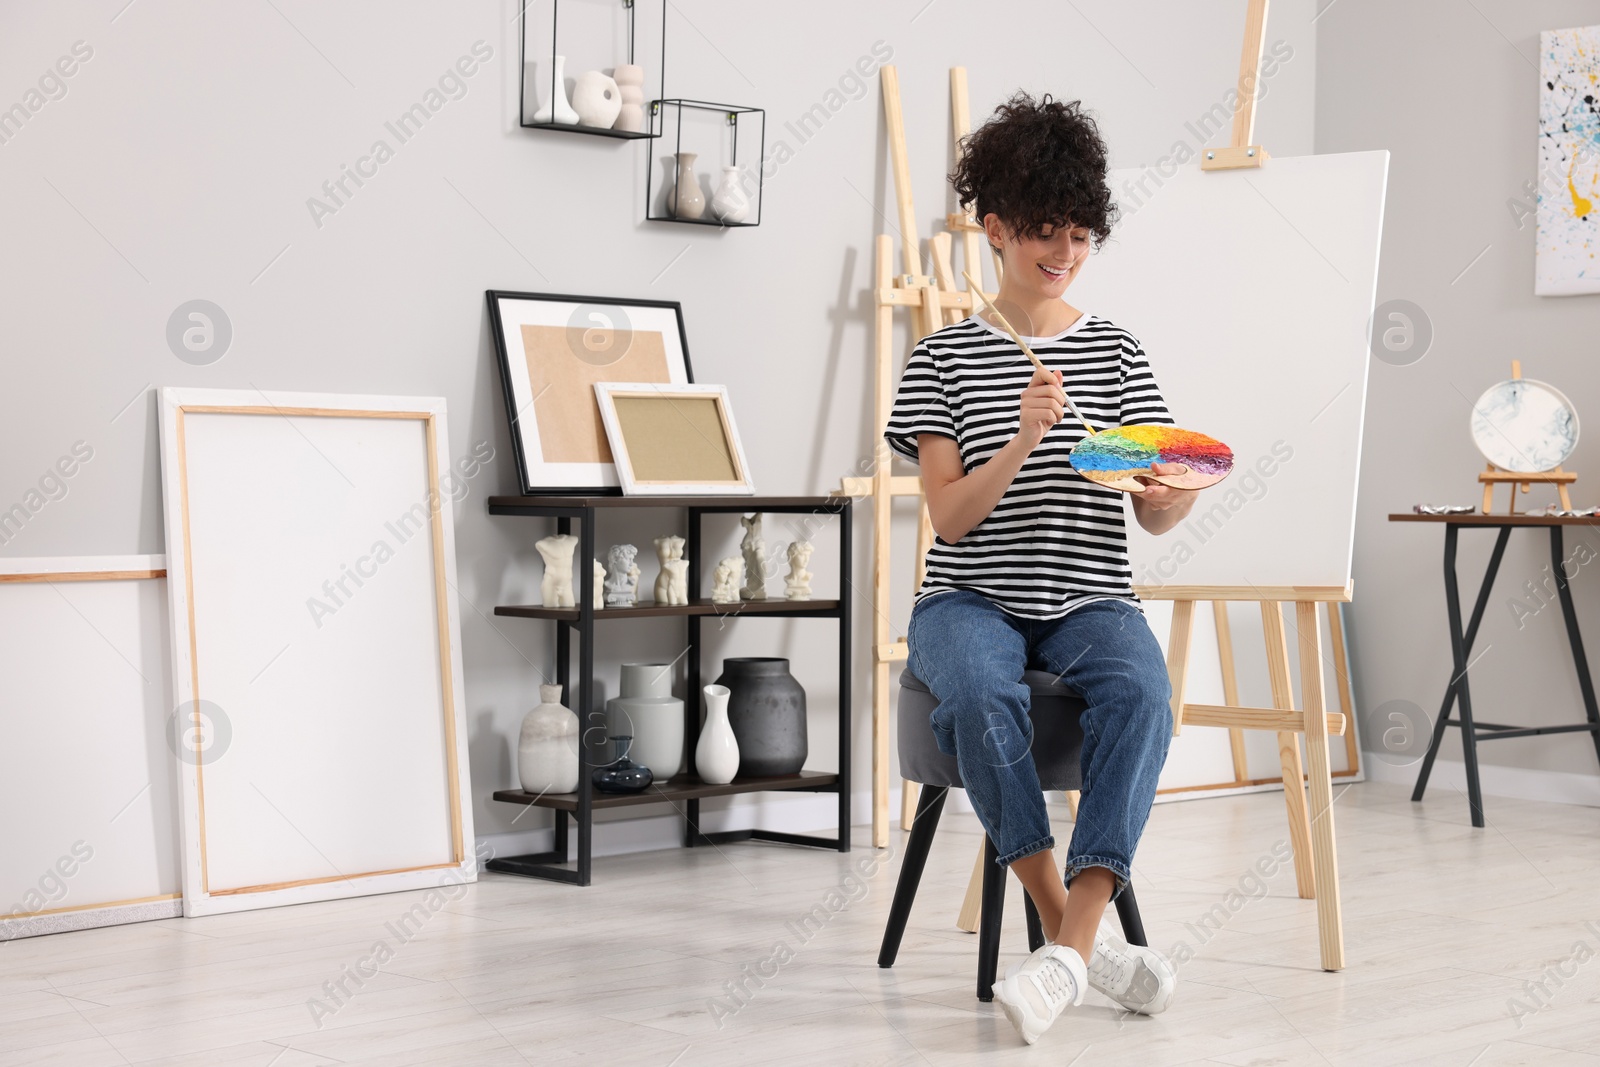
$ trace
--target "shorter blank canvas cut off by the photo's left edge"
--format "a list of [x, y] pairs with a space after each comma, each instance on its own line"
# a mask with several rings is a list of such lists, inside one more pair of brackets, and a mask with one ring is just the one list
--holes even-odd
[[165, 560], [0, 560], [0, 941], [181, 913]]

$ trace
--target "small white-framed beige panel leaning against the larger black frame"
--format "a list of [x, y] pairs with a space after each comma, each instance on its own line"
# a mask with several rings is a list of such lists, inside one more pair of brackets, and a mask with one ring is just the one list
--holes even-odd
[[597, 382], [627, 494], [747, 494], [755, 486], [725, 386]]

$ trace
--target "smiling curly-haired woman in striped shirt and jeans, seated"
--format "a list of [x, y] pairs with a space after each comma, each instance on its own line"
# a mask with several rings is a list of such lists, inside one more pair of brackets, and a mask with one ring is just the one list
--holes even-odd
[[[1035, 371], [989, 314], [917, 346], [885, 437], [922, 467], [938, 534], [909, 627], [909, 667], [939, 699], [933, 729], [957, 757], [978, 817], [1027, 888], [1050, 942], [995, 982], [1032, 1045], [1085, 985], [1146, 1014], [1171, 1000], [1158, 952], [1098, 937], [1128, 883], [1171, 741], [1162, 649], [1133, 595], [1117, 490], [1067, 462], [1096, 427], [1171, 424], [1139, 342], [1062, 296], [1110, 235], [1117, 208], [1106, 144], [1078, 101], [1019, 93], [968, 138], [952, 174], [1000, 254], [998, 307], [1048, 368]], [[1179, 474], [1178, 464], [1155, 474]], [[1195, 493], [1147, 482], [1126, 494], [1138, 523], [1166, 533]], [[1056, 877], [1029, 757], [1024, 669], [1080, 693], [1083, 793]]]

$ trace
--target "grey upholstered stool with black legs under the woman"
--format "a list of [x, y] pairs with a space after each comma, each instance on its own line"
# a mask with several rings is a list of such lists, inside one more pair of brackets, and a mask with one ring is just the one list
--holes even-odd
[[[1024, 670], [1032, 699], [1029, 718], [1034, 723], [1034, 769], [1038, 784], [1048, 792], [1080, 789], [1083, 784], [1078, 760], [1083, 753], [1083, 729], [1078, 717], [1088, 707], [1083, 699], [1061, 685], [1056, 675], [1045, 670]], [[955, 757], [939, 752], [933, 739], [930, 715], [939, 705], [922, 678], [910, 669], [901, 672], [899, 688], [899, 757], [901, 776], [922, 784], [917, 800], [917, 817], [906, 843], [906, 859], [901, 862], [899, 881], [894, 885], [894, 902], [890, 905], [890, 921], [883, 931], [883, 947], [878, 950], [878, 966], [894, 966], [899, 955], [906, 921], [910, 918], [912, 901], [917, 899], [917, 883], [928, 864], [933, 833], [939, 829], [939, 814], [950, 789], [962, 789], [962, 773]], [[1000, 965], [1000, 918], [1005, 907], [1006, 872], [998, 859], [995, 843], [984, 837], [984, 891], [982, 912], [978, 921], [978, 1000], [994, 1000], [995, 971]], [[1045, 944], [1034, 901], [1024, 893], [1027, 909], [1027, 947], [1037, 950]], [[1117, 917], [1130, 944], [1147, 945], [1139, 904], [1130, 885], [1117, 896]]]

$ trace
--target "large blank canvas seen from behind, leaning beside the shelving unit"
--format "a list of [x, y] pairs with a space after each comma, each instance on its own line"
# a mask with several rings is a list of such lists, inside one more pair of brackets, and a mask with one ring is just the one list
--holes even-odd
[[472, 880], [445, 402], [163, 389], [184, 913]]

